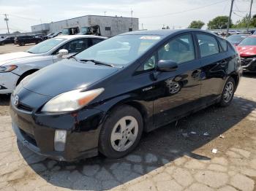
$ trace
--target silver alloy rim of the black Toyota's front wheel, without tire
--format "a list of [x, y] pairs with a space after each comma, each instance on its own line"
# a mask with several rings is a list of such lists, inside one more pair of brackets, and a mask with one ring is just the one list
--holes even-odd
[[118, 152], [124, 152], [135, 143], [138, 136], [138, 121], [135, 117], [122, 117], [114, 126], [110, 141], [111, 146]]

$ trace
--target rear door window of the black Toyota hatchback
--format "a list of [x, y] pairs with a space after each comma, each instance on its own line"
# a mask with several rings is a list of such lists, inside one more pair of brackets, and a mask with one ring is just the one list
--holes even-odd
[[219, 45], [214, 36], [208, 34], [197, 34], [201, 57], [219, 53]]

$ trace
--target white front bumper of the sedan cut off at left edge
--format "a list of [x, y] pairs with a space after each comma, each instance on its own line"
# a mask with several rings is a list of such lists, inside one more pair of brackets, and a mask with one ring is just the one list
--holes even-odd
[[12, 72], [0, 73], [0, 94], [12, 93], [20, 76]]

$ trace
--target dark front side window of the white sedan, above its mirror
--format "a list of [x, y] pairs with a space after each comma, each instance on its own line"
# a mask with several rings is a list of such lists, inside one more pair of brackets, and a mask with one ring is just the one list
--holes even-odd
[[[69, 53], [77, 53], [86, 50], [88, 47], [88, 39], [75, 39], [71, 42], [68, 42], [67, 44], [64, 44], [59, 48], [59, 50], [66, 49], [69, 51]], [[57, 50], [55, 53], [58, 54], [59, 50]]]

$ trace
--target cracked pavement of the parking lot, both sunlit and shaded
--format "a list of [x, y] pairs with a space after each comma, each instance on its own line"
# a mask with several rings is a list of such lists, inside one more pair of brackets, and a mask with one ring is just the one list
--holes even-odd
[[[4, 45], [0, 53], [28, 48]], [[77, 163], [40, 157], [17, 142], [10, 95], [0, 95], [0, 190], [255, 190], [255, 83], [256, 74], [246, 74], [230, 106], [146, 133], [127, 157]]]

